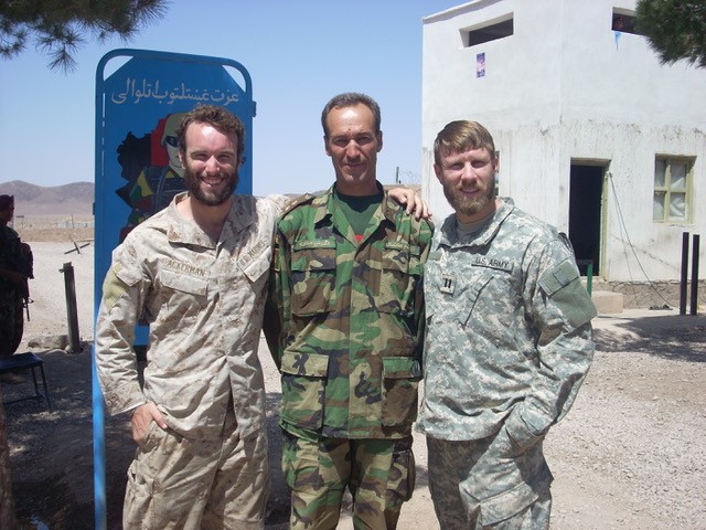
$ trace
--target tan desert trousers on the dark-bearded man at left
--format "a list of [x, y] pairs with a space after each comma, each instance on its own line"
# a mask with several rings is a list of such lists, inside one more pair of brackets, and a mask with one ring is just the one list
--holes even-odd
[[264, 428], [242, 438], [231, 412], [220, 437], [192, 439], [152, 422], [128, 469], [122, 527], [261, 530], [268, 495]]

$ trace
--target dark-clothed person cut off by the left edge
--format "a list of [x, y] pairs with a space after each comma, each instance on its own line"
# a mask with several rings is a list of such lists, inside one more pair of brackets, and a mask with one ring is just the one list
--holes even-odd
[[[31, 272], [31, 253], [19, 234], [8, 226], [14, 216], [14, 197], [0, 195], [0, 358], [12, 356], [24, 333], [24, 299]], [[0, 381], [19, 383], [17, 373], [2, 374]]]

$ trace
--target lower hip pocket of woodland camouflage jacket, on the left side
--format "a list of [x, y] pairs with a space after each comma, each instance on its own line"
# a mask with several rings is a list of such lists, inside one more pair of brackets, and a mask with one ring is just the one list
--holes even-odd
[[321, 427], [328, 370], [329, 356], [285, 352], [280, 367], [285, 423], [311, 430]]

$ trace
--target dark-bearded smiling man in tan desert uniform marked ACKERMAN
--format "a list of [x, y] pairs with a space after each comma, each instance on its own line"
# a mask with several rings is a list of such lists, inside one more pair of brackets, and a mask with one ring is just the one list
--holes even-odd
[[[116, 248], [96, 362], [107, 409], [132, 413], [126, 529], [261, 529], [269, 478], [257, 358], [285, 197], [233, 195], [245, 130], [221, 107], [178, 130], [189, 192]], [[145, 385], [135, 324], [150, 324]]]

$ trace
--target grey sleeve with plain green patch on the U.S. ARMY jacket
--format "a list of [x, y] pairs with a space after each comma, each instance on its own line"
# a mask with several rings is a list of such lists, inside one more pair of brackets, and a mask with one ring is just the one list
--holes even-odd
[[[523, 448], [539, 441], [569, 411], [593, 358], [591, 319], [596, 307], [576, 262], [560, 242], [531, 267], [527, 318], [536, 336], [537, 375], [527, 398], [505, 421]], [[537, 278], [531, 280], [530, 276]]]

